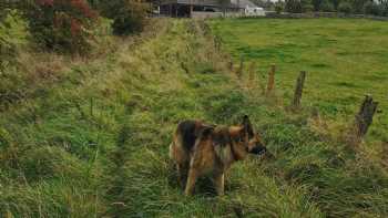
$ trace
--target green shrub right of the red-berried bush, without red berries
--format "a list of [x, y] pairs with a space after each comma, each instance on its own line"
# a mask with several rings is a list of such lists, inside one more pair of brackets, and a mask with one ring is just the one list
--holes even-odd
[[126, 35], [142, 31], [146, 22], [147, 4], [136, 0], [103, 0], [102, 14], [113, 20], [113, 33]]

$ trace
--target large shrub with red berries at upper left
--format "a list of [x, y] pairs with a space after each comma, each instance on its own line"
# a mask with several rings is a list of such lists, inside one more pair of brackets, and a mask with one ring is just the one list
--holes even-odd
[[44, 49], [85, 53], [96, 13], [84, 0], [35, 0], [25, 10], [30, 32]]

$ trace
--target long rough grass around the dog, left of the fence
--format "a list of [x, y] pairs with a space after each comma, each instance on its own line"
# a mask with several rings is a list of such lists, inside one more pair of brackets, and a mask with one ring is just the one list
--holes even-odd
[[[88, 59], [22, 50], [0, 75], [0, 217], [388, 216], [387, 154], [321, 134], [308, 108], [237, 80], [203, 22], [99, 40]], [[243, 114], [275, 159], [234, 165], [225, 196], [202, 179], [185, 197], [167, 155], [176, 124]]]

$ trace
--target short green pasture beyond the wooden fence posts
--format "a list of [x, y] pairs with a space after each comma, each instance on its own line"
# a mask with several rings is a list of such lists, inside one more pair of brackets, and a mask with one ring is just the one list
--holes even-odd
[[299, 71], [307, 71], [304, 105], [347, 123], [365, 94], [377, 114], [369, 141], [388, 141], [388, 23], [361, 19], [226, 19], [212, 27], [232, 53], [257, 63], [261, 75], [276, 64], [278, 92], [289, 102]]

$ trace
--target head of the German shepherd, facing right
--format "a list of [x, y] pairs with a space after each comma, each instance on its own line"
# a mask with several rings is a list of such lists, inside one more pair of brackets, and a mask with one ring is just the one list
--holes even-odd
[[267, 152], [262, 137], [253, 129], [247, 115], [243, 117], [243, 122], [238, 126], [232, 126], [229, 129], [233, 138], [232, 146], [237, 159], [244, 159], [248, 154], [261, 155]]

